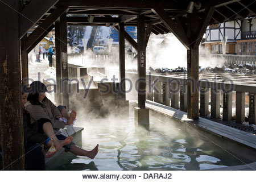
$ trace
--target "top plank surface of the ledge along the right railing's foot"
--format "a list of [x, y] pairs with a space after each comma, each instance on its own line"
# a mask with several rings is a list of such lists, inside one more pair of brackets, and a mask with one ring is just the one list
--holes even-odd
[[184, 111], [164, 106], [156, 102], [147, 100], [146, 107], [158, 111], [159, 113], [166, 114], [170, 117], [179, 119], [180, 121], [196, 125], [200, 129], [219, 135], [222, 138], [227, 138], [235, 142], [238, 142], [242, 145], [249, 146], [251, 148], [254, 148], [256, 151], [256, 135], [254, 134], [246, 133], [245, 131], [234, 129], [233, 127], [221, 125], [220, 123], [210, 121], [208, 119], [201, 117], [199, 117], [198, 120], [188, 119], [187, 113], [185, 113]]

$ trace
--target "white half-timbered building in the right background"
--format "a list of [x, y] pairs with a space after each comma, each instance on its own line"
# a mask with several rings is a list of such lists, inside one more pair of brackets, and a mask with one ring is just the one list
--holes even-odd
[[256, 55], [256, 18], [246, 18], [208, 26], [203, 43], [210, 53], [222, 53], [226, 36], [226, 54]]

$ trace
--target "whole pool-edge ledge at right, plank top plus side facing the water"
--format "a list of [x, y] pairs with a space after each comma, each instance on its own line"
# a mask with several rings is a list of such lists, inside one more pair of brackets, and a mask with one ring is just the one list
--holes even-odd
[[[175, 118], [181, 130], [192, 134], [198, 134], [201, 138], [205, 138], [224, 148], [236, 156], [242, 156], [256, 162], [256, 135], [246, 133], [220, 123], [210, 121], [199, 117], [198, 120], [188, 119], [187, 113], [164, 106], [156, 102], [146, 102], [146, 107], [151, 111]], [[184, 125], [185, 124], [185, 125]]]

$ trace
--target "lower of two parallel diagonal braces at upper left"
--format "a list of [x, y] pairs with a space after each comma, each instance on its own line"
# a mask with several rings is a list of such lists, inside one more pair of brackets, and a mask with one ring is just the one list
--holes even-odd
[[62, 15], [65, 11], [68, 10], [68, 7], [58, 7], [49, 15], [46, 20], [39, 27], [37, 27], [27, 38], [26, 49], [28, 49], [35, 40], [41, 36], [47, 29]]

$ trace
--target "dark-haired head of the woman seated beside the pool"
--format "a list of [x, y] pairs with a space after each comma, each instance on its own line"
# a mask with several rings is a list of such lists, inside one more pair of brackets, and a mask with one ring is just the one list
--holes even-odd
[[34, 81], [30, 84], [30, 94], [28, 94], [27, 100], [32, 105], [41, 105], [42, 101], [46, 98], [47, 88], [40, 81]]

